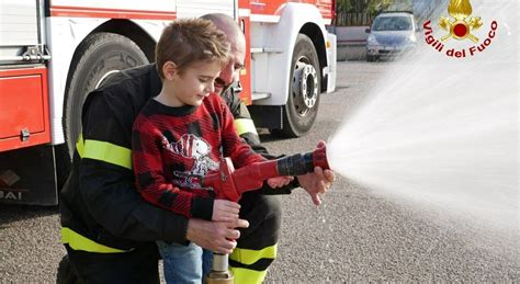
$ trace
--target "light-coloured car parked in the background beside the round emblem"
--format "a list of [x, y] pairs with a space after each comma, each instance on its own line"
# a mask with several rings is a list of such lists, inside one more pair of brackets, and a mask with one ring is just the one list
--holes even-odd
[[383, 12], [378, 14], [366, 39], [366, 60], [392, 57], [414, 48], [418, 31], [414, 14], [410, 12]]

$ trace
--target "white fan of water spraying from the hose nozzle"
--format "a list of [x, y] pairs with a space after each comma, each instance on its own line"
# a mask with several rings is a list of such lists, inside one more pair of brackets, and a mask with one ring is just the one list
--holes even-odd
[[[439, 21], [446, 5], [425, 19], [425, 42], [388, 66], [347, 114], [328, 144], [329, 163], [374, 193], [431, 205], [513, 239], [519, 219], [518, 1], [474, 4], [467, 16], [482, 21], [471, 31], [478, 42], [441, 41], [446, 31]], [[444, 48], [432, 46], [437, 38]]]

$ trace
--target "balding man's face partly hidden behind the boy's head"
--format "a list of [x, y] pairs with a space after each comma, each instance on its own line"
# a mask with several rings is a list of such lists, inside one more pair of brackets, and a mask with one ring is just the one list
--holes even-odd
[[215, 92], [222, 94], [231, 83], [238, 81], [240, 70], [245, 67], [246, 59], [246, 39], [238, 38], [235, 45], [231, 45], [231, 59], [222, 69], [221, 75], [215, 79]]

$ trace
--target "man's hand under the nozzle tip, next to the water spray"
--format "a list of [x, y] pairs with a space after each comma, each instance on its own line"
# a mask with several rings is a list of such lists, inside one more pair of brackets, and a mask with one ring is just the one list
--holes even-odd
[[332, 170], [323, 170], [319, 167], [314, 168], [314, 172], [298, 175], [299, 185], [310, 195], [314, 204], [321, 204], [319, 194], [326, 193], [332, 182], [336, 180], [336, 174]]

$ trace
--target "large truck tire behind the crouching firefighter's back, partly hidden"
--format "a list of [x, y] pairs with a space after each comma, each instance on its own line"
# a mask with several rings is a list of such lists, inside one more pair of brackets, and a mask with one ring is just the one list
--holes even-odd
[[81, 132], [81, 109], [87, 94], [110, 75], [147, 63], [148, 58], [139, 46], [118, 34], [92, 34], [78, 46], [65, 91], [63, 124], [66, 143], [57, 148], [57, 163], [71, 160]]

